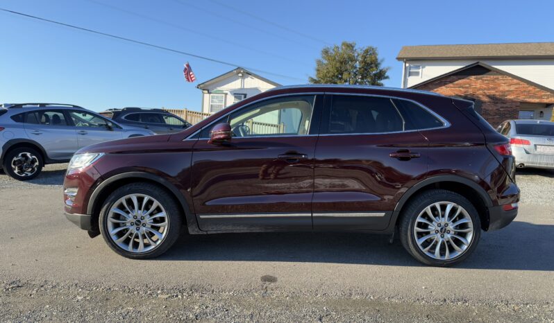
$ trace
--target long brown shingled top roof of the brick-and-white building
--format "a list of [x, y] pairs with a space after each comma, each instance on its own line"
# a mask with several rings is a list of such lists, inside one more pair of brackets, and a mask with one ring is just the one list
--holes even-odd
[[403, 46], [396, 60], [554, 58], [554, 42]]

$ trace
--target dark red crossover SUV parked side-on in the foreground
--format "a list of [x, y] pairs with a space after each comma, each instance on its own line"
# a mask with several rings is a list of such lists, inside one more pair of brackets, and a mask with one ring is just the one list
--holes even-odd
[[398, 234], [451, 265], [517, 215], [506, 137], [471, 101], [426, 91], [279, 87], [183, 132], [76, 152], [65, 214], [118, 254], [159, 256], [190, 234]]

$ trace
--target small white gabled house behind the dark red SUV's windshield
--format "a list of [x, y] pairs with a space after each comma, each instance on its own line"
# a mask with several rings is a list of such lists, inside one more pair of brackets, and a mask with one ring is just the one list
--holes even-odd
[[196, 87], [202, 90], [202, 112], [212, 114], [244, 98], [279, 86], [274, 81], [237, 67]]

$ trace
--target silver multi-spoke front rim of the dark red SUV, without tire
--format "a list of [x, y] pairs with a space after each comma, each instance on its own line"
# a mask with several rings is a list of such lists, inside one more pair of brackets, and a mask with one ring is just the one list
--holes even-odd
[[145, 194], [129, 194], [112, 204], [108, 234], [121, 249], [133, 253], [156, 249], [167, 236], [169, 222], [164, 207]]

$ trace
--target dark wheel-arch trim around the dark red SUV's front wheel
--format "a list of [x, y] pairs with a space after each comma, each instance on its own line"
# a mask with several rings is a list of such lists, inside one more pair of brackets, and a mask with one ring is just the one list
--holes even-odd
[[100, 216], [100, 210], [102, 208], [103, 202], [108, 198], [110, 193], [115, 191], [118, 187], [130, 184], [134, 182], [149, 182], [161, 186], [166, 189], [168, 193], [171, 194], [173, 198], [176, 199], [178, 205], [181, 207], [181, 211], [185, 216], [187, 229], [191, 234], [203, 233], [196, 222], [196, 217], [192, 213], [189, 203], [183, 196], [183, 193], [175, 186], [173, 183], [166, 180], [164, 177], [155, 175], [152, 173], [146, 173], [141, 171], [126, 172], [114, 175], [109, 177], [107, 180], [104, 180], [92, 191], [90, 198], [88, 198], [87, 204], [87, 214], [91, 215], [91, 227], [93, 232], [99, 230], [98, 219]]

